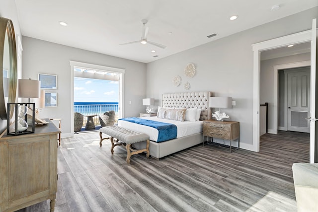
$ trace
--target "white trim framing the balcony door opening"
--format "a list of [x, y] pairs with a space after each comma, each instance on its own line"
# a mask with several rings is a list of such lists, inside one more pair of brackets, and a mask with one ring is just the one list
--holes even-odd
[[120, 75], [119, 76], [119, 96], [120, 96], [120, 99], [118, 100], [118, 106], [120, 106], [120, 107], [118, 108], [118, 117], [119, 118], [124, 117], [124, 104], [123, 104], [123, 102], [124, 102], [124, 75], [125, 75], [124, 69], [88, 64], [88, 63], [81, 63], [81, 62], [77, 62], [77, 61], [70, 61], [70, 67], [71, 67], [70, 90], [71, 90], [71, 99], [72, 99], [72, 101], [71, 101], [71, 134], [72, 134], [72, 136], [74, 135], [74, 101], [73, 101], [74, 100], [74, 67], [120, 73], [119, 74]]

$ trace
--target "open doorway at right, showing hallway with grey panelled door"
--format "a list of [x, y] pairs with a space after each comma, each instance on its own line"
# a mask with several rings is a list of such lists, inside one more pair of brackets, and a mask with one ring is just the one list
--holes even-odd
[[[310, 103], [310, 42], [295, 46], [296, 50], [286, 46], [260, 53], [260, 103], [269, 102], [268, 133], [271, 134], [262, 136], [260, 141], [275, 138], [287, 144], [295, 137], [302, 138], [304, 151], [309, 153], [309, 122], [305, 118]], [[287, 48], [289, 52], [284, 52]], [[306, 132], [306, 128], [307, 134], [296, 133]]]

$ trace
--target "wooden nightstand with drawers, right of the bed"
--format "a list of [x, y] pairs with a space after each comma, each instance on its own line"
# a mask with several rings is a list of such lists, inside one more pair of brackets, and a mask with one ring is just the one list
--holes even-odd
[[[239, 122], [216, 120], [203, 121], [203, 145], [204, 136], [213, 138], [230, 140], [230, 152], [239, 149]], [[232, 151], [232, 141], [238, 140], [238, 147]], [[223, 145], [223, 144], [222, 144]]]

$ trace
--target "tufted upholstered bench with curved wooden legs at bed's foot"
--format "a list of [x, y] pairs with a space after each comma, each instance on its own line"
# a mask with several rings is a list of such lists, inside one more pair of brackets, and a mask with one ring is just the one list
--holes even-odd
[[[126, 146], [127, 149], [127, 164], [130, 163], [130, 156], [133, 154], [139, 154], [144, 151], [147, 152], [147, 157], [149, 157], [149, 136], [144, 133], [140, 133], [137, 131], [132, 131], [123, 127], [119, 126], [108, 126], [108, 127], [102, 127], [99, 129], [99, 137], [100, 137], [100, 142], [99, 145], [102, 145], [102, 141], [107, 138], [102, 138], [102, 134], [106, 134], [110, 136], [110, 141], [111, 141], [111, 153], [114, 153], [114, 147], [117, 145], [123, 145]], [[116, 140], [114, 140], [116, 139]], [[116, 142], [114, 144], [114, 141]], [[147, 141], [147, 145], [145, 149], [133, 149], [132, 144], [141, 142], [141, 141]]]

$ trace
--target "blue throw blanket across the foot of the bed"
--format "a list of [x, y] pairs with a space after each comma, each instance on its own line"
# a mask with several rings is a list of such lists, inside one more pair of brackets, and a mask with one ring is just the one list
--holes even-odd
[[140, 119], [135, 117], [122, 118], [119, 120], [156, 128], [159, 131], [157, 143], [177, 138], [177, 126], [175, 126], [174, 124], [156, 122], [152, 120]]

